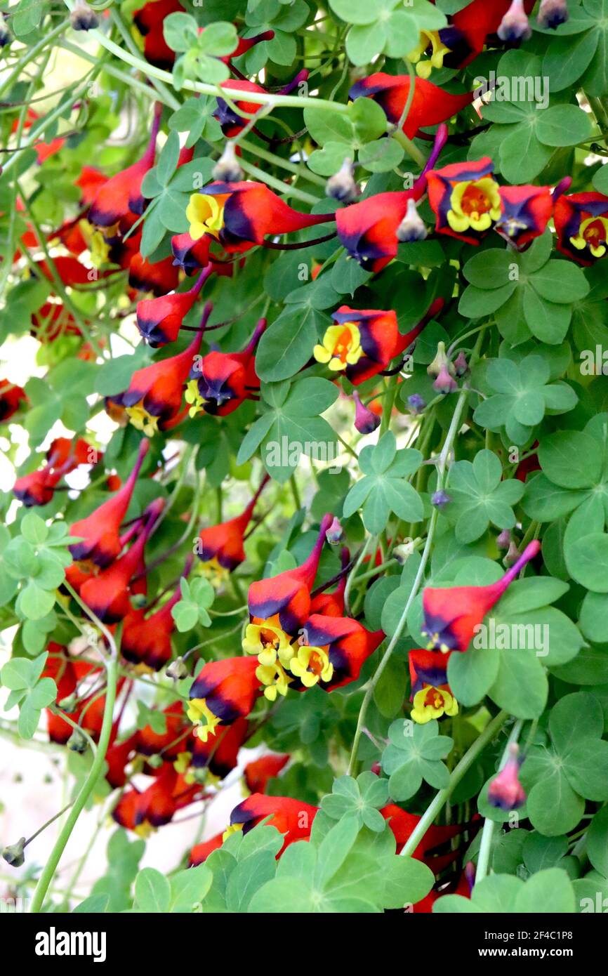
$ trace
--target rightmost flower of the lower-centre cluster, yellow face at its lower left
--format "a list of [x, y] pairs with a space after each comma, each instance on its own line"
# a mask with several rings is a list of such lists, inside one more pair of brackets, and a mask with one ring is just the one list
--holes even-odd
[[297, 689], [313, 684], [325, 691], [342, 688], [356, 681], [361, 668], [385, 639], [384, 630], [366, 630], [350, 617], [326, 617], [311, 614], [306, 620], [300, 647], [288, 668], [299, 681]]

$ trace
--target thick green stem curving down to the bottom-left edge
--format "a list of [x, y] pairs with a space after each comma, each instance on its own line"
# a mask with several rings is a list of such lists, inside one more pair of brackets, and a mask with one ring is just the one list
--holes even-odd
[[36, 885], [29, 910], [33, 915], [36, 915], [42, 911], [45, 896], [49, 889], [49, 885], [53, 880], [55, 872], [57, 871], [65, 845], [67, 844], [67, 841], [69, 840], [71, 833], [76, 826], [78, 817], [82, 813], [89, 796], [91, 793], [93, 793], [95, 785], [101, 776], [103, 760], [105, 758], [105, 753], [107, 752], [107, 747], [109, 745], [109, 739], [112, 732], [112, 717], [114, 712], [114, 702], [116, 700], [116, 681], [118, 677], [117, 657], [114, 656], [105, 663], [105, 671], [105, 706], [103, 709], [103, 721], [101, 724], [101, 735], [98, 751], [93, 759], [91, 769], [89, 770], [89, 775], [87, 776], [78, 795], [76, 796], [76, 799], [74, 800], [73, 806], [69, 811], [63, 827], [61, 828], [61, 833], [55, 842], [53, 850], [51, 851], [51, 856], [49, 857], [49, 860], [44, 866], [42, 874], [40, 874], [40, 878], [38, 879], [38, 884]]

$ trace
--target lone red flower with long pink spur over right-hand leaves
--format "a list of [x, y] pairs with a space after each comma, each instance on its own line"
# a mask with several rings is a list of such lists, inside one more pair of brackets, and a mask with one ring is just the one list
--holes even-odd
[[444, 654], [448, 651], [466, 651], [477, 625], [481, 624], [509, 583], [540, 549], [541, 544], [535, 539], [505, 576], [490, 586], [426, 587], [423, 593], [425, 616], [422, 633], [428, 637], [428, 648], [436, 648]]

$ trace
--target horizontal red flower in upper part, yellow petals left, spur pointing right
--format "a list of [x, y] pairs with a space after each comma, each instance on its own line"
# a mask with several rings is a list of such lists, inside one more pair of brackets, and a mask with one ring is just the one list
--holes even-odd
[[226, 251], [247, 251], [266, 234], [286, 234], [334, 220], [334, 214], [302, 214], [264, 183], [209, 183], [193, 193], [185, 211], [193, 240], [216, 237]]

